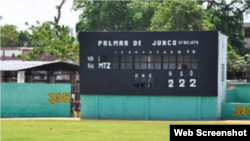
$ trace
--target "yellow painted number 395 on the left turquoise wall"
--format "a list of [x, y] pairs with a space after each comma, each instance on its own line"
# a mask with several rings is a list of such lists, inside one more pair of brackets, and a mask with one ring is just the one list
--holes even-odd
[[48, 102], [50, 104], [54, 104], [55, 102], [57, 103], [69, 103], [70, 101], [70, 94], [69, 93], [50, 93], [49, 95], [49, 100]]

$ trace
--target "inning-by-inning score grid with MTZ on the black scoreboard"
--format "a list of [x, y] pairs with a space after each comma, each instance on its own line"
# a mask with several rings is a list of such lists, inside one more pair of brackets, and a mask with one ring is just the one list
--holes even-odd
[[95, 57], [88, 56], [88, 69], [149, 69], [149, 70], [185, 70], [198, 69], [196, 55], [117, 55], [98, 56], [98, 64], [94, 64]]

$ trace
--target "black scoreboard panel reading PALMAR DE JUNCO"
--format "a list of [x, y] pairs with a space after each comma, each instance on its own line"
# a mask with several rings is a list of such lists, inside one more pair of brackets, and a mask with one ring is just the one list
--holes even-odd
[[81, 32], [81, 94], [216, 96], [218, 31]]

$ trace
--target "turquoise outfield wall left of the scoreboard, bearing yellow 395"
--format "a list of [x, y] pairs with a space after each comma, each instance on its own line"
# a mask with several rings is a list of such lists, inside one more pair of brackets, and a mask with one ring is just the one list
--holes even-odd
[[70, 101], [51, 104], [48, 95], [70, 92], [69, 84], [0, 84], [0, 118], [69, 117]]

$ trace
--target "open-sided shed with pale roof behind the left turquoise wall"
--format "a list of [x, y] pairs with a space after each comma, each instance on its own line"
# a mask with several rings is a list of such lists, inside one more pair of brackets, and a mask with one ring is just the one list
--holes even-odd
[[79, 65], [53, 61], [0, 61], [0, 83], [71, 84], [79, 99]]

